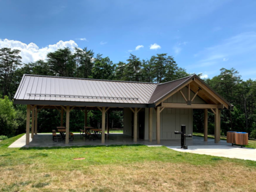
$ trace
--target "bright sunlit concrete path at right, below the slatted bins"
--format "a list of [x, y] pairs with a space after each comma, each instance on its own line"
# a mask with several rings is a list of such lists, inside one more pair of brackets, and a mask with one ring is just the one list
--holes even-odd
[[241, 148], [238, 146], [226, 145], [193, 145], [188, 149], [181, 149], [180, 146], [167, 146], [179, 152], [196, 153], [201, 155], [211, 155], [217, 157], [240, 158], [242, 160], [256, 161], [256, 149]]

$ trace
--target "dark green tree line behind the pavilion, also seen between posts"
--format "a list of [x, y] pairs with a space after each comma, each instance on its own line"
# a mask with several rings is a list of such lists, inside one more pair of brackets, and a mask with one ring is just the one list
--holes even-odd
[[[19, 52], [19, 50], [10, 48], [0, 49], [0, 94], [2, 100], [6, 99], [4, 98], [5, 95], [9, 99], [13, 99], [23, 74], [157, 83], [173, 81], [191, 75], [184, 68], [180, 68], [174, 57], [167, 53], [153, 55], [148, 60], [130, 54], [126, 62], [120, 61], [114, 64], [109, 57], [103, 57], [101, 54], [95, 55], [92, 49], [76, 48], [75, 52], [71, 52], [69, 48], [63, 48], [48, 53], [46, 60], [22, 64], [22, 57], [19, 56]], [[251, 133], [251, 136], [256, 137], [256, 82], [254, 80], [243, 81], [237, 70], [233, 68], [222, 68], [220, 74], [204, 81], [234, 105], [234, 111], [223, 111], [221, 114], [222, 135], [225, 135], [226, 131], [234, 130], [246, 131]], [[25, 114], [24, 106], [15, 105], [14, 108]], [[23, 112], [18, 114], [23, 114]], [[82, 113], [76, 111], [72, 114], [75, 127], [82, 126]], [[213, 133], [214, 117], [213, 114], [209, 114], [209, 133]], [[22, 122], [20, 120], [22, 115], [18, 116], [20, 123]], [[203, 111], [193, 110], [193, 116], [193, 130], [202, 132]], [[100, 114], [96, 111], [91, 112], [89, 118], [93, 126], [100, 119]], [[1, 119], [3, 118], [0, 114]], [[59, 122], [59, 119], [59, 113], [56, 110], [42, 110], [41, 115], [39, 114], [39, 131], [51, 130]], [[122, 126], [122, 112], [114, 112], [110, 116], [111, 119], [114, 122], [114, 127]], [[3, 133], [1, 130], [3, 128], [0, 128], [0, 135]], [[13, 133], [24, 132], [24, 130], [23, 122], [16, 125]]]

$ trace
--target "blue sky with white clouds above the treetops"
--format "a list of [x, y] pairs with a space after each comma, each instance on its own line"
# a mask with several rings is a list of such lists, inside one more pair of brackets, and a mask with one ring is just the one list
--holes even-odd
[[20, 49], [23, 62], [77, 46], [114, 63], [168, 53], [189, 73], [213, 77], [233, 67], [256, 80], [255, 7], [254, 0], [0, 0], [0, 48]]

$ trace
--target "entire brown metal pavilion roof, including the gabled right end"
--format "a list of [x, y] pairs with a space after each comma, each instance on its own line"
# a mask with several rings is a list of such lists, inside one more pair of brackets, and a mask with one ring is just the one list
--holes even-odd
[[[24, 74], [14, 96], [15, 104], [154, 107], [156, 103], [197, 78], [196, 75], [164, 84], [93, 80], [72, 77], [38, 76]], [[212, 90], [217, 97], [226, 102]]]

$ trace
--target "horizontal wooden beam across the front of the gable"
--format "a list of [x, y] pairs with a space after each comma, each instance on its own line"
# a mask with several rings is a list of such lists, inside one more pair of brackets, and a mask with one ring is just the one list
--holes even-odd
[[187, 103], [162, 103], [160, 104], [160, 107], [166, 107], [166, 108], [218, 108], [218, 105], [212, 105], [212, 104], [191, 104], [188, 105]]

